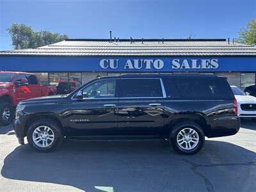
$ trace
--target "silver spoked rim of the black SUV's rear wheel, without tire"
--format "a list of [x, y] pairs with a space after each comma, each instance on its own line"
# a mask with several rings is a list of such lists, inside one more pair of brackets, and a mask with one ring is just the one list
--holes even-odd
[[184, 150], [192, 150], [199, 143], [199, 135], [192, 128], [184, 128], [177, 134], [177, 143]]

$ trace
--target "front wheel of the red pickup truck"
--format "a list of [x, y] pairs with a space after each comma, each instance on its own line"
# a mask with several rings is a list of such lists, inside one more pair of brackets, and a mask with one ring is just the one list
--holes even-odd
[[14, 118], [14, 109], [12, 104], [4, 102], [0, 104], [0, 125], [9, 125]]

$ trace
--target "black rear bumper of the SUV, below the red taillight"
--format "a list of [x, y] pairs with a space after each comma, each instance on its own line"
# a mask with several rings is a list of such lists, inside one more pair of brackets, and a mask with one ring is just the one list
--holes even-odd
[[236, 134], [239, 129], [240, 118], [238, 116], [225, 116], [213, 120], [211, 129], [206, 136], [208, 138], [230, 136]]

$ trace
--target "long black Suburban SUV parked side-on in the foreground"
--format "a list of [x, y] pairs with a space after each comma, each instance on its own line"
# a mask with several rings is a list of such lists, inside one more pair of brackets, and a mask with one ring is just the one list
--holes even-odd
[[19, 103], [20, 144], [46, 152], [63, 138], [167, 139], [180, 154], [195, 154], [208, 138], [239, 131], [237, 104], [224, 77], [124, 75], [99, 77], [69, 95]]

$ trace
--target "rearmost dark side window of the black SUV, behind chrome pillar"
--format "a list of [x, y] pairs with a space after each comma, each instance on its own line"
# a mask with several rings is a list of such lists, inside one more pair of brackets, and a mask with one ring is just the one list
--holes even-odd
[[182, 77], [175, 79], [182, 97], [232, 98], [232, 90], [225, 78]]

